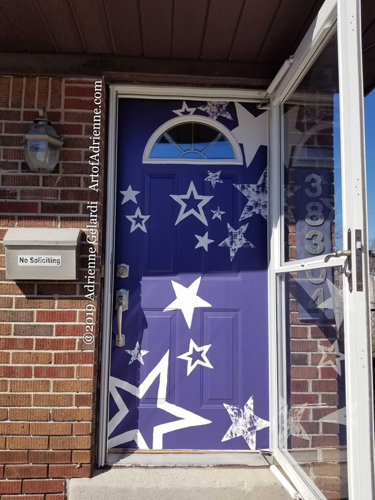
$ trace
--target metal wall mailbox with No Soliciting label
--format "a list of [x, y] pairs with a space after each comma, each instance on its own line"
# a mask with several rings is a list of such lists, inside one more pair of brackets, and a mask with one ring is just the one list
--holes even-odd
[[78, 279], [81, 229], [12, 227], [5, 238], [6, 278]]

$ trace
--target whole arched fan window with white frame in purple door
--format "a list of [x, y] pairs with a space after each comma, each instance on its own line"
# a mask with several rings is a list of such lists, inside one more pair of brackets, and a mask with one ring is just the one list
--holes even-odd
[[[213, 122], [213, 123], [212, 123]], [[204, 117], [174, 118], [150, 137], [143, 163], [242, 164], [242, 153], [230, 131]]]

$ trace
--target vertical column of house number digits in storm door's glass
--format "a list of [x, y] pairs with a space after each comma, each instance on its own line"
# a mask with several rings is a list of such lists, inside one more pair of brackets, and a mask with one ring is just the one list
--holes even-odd
[[[317, 198], [322, 195], [322, 177], [317, 174], [309, 174], [305, 178], [305, 182], [310, 182], [310, 187], [305, 189], [305, 194], [310, 198]], [[306, 250], [311, 255], [320, 255], [324, 252], [323, 233], [316, 229], [324, 223], [323, 204], [320, 201], [313, 200], [306, 204], [305, 222], [314, 229], [311, 229], [306, 234], [306, 240], [311, 243], [306, 245]], [[306, 271], [307, 279], [313, 284], [322, 284], [327, 277], [327, 270], [320, 269], [320, 276], [314, 277], [312, 271]], [[313, 296], [312, 301], [316, 303], [322, 302], [323, 288], [318, 288]]]

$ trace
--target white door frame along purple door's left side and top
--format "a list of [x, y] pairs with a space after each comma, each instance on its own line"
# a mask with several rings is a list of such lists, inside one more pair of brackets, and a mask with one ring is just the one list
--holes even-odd
[[[108, 160], [106, 164], [106, 230], [104, 249], [104, 284], [103, 284], [103, 316], [101, 327], [101, 367], [98, 421], [97, 465], [106, 463], [108, 442], [108, 408], [109, 408], [109, 374], [111, 363], [111, 335], [113, 311], [113, 275], [115, 249], [115, 207], [116, 207], [116, 172], [117, 172], [117, 124], [118, 100], [120, 98], [143, 99], [190, 99], [202, 101], [237, 101], [261, 102], [266, 92], [247, 89], [227, 89], [189, 86], [154, 86], [112, 84], [109, 86], [109, 120], [108, 120]], [[270, 197], [269, 197], [270, 203]], [[267, 252], [270, 255], [269, 245]], [[269, 328], [270, 332], [270, 328]], [[270, 335], [269, 335], [270, 337]], [[270, 408], [271, 412], [271, 408]], [[271, 426], [270, 426], [271, 427]], [[166, 452], [168, 453], [168, 452]]]

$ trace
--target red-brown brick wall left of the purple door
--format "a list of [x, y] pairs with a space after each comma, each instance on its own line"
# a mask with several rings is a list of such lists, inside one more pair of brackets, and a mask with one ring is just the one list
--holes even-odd
[[[38, 106], [46, 107], [64, 138], [51, 174], [31, 172], [24, 163], [21, 141]], [[87, 201], [98, 201], [101, 241], [102, 180], [98, 192], [89, 188], [94, 107], [91, 80], [0, 77], [0, 240], [13, 226], [85, 229]], [[1, 500], [63, 500], [62, 478], [91, 472], [99, 318], [96, 314], [95, 342], [86, 344], [85, 307], [97, 306], [97, 299], [84, 298], [85, 236], [78, 282], [6, 280], [4, 246], [0, 248]], [[100, 245], [95, 249], [97, 297]]]

